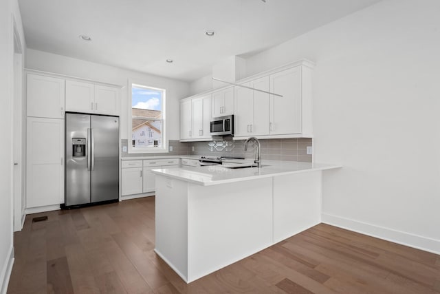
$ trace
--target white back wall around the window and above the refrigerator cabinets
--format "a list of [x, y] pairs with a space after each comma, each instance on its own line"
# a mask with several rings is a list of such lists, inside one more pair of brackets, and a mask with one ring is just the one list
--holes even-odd
[[120, 115], [122, 139], [128, 137], [127, 96], [129, 95], [129, 88], [127, 85], [129, 80], [142, 85], [166, 89], [168, 139], [179, 139], [179, 100], [189, 96], [188, 83], [32, 49], [26, 51], [25, 67], [32, 70], [65, 74], [67, 76], [87, 78], [94, 81], [124, 86], [124, 89], [122, 90], [122, 107]]

